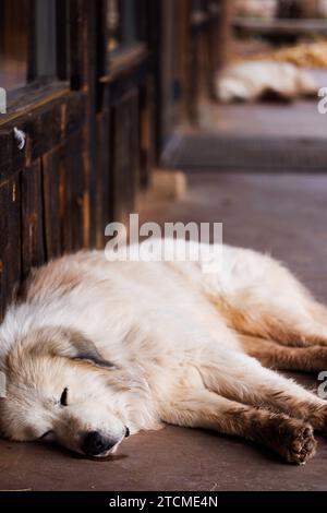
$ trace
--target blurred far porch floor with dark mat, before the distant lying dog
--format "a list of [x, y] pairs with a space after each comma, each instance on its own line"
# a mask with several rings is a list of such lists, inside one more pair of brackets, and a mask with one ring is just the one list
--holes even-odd
[[179, 128], [162, 165], [187, 171], [326, 172], [327, 116], [317, 106], [318, 98], [231, 105], [203, 100], [197, 124]]

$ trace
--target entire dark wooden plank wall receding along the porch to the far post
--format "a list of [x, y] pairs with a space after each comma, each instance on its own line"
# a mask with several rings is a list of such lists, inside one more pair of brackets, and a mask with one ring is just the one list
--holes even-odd
[[[178, 122], [178, 83], [189, 111], [209, 88], [213, 16], [211, 25], [192, 29], [191, 0], [181, 0], [180, 9], [173, 1], [170, 9], [166, 0], [137, 2], [141, 43], [122, 68], [108, 68], [106, 0], [58, 0], [70, 11], [70, 32], [62, 20], [57, 27], [61, 83], [46, 88], [41, 100], [38, 90], [28, 93], [20, 115], [0, 119], [0, 321], [33, 267], [81, 248], [102, 248], [106, 225], [128, 220]], [[23, 151], [14, 127], [27, 134]]]

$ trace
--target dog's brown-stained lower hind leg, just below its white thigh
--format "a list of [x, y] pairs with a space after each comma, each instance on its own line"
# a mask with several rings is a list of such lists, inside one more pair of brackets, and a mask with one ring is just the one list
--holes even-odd
[[276, 370], [320, 372], [327, 369], [327, 347], [287, 347], [271, 341], [239, 335], [245, 353]]

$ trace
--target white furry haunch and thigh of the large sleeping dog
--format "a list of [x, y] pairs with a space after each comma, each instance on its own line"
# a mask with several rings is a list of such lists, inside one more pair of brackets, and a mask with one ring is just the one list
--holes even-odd
[[231, 327], [286, 346], [327, 347], [327, 308], [286, 267], [254, 251], [223, 251], [226, 269], [203, 274], [203, 288]]

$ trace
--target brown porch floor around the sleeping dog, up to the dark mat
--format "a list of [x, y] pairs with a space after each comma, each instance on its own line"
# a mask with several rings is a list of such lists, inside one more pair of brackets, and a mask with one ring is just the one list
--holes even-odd
[[[327, 301], [327, 176], [210, 172], [189, 182], [182, 201], [148, 204], [142, 218], [222, 222], [225, 242], [271, 252]], [[326, 490], [326, 465], [323, 439], [316, 457], [294, 467], [241, 440], [169, 427], [132, 437], [109, 462], [2, 441], [0, 489]]]

